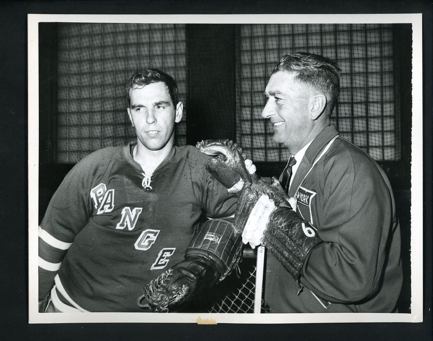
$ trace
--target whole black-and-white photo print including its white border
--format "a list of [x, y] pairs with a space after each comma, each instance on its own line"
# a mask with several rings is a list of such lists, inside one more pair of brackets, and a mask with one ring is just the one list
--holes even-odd
[[29, 323], [423, 321], [421, 14], [28, 29]]

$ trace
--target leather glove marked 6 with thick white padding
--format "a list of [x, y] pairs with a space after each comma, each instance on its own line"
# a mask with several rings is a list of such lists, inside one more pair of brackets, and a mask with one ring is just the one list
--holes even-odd
[[253, 248], [264, 245], [296, 280], [310, 251], [323, 241], [314, 227], [292, 209], [287, 195], [262, 180], [245, 185], [234, 230], [242, 232], [244, 244], [250, 243]]

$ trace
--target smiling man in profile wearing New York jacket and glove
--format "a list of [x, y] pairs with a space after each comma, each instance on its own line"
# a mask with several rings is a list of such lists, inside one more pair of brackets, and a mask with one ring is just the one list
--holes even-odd
[[[338, 67], [320, 55], [285, 55], [265, 94], [262, 117], [291, 153], [284, 190], [239, 172], [245, 185], [234, 227], [244, 243], [267, 248], [266, 312], [396, 312], [394, 197], [380, 166], [330, 124]], [[225, 172], [215, 176], [226, 182]]]

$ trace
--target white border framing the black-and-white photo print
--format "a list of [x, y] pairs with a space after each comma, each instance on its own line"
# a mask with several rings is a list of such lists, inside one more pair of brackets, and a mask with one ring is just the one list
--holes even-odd
[[[410, 23], [412, 24], [411, 313], [38, 313], [39, 45], [40, 22], [65, 23]], [[409, 48], [405, 46], [404, 48]], [[315, 15], [28, 15], [29, 323], [176, 322], [329, 323], [423, 321], [422, 14]]]

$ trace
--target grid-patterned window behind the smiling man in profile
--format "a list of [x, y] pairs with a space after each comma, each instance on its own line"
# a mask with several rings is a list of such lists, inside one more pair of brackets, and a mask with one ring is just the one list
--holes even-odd
[[391, 24], [246, 24], [240, 27], [237, 139], [255, 161], [287, 161], [261, 117], [266, 84], [286, 53], [310, 52], [341, 68], [339, 101], [331, 116], [340, 136], [378, 161], [397, 161], [399, 113], [394, 107]]

